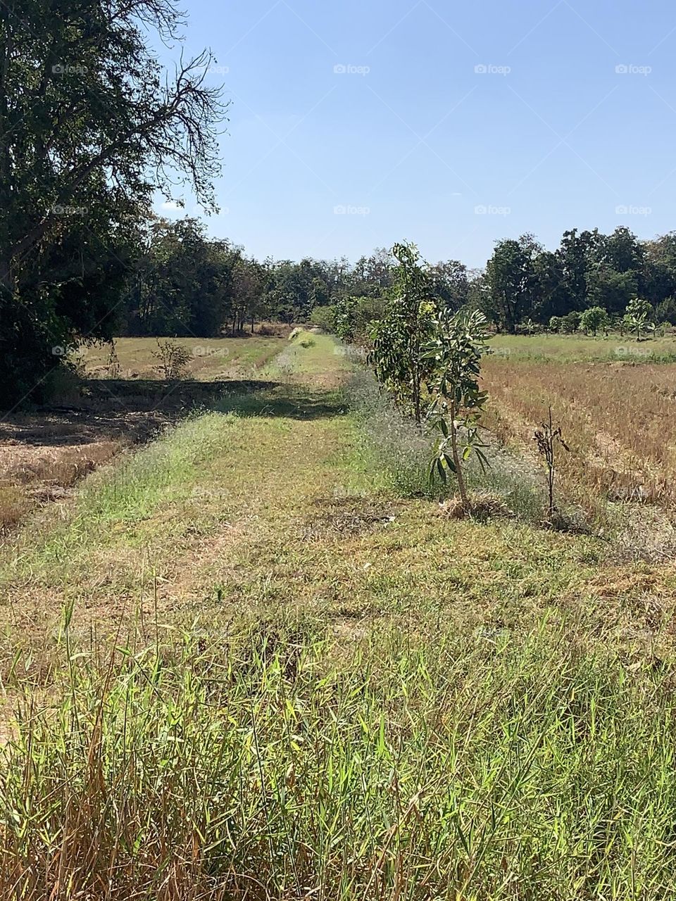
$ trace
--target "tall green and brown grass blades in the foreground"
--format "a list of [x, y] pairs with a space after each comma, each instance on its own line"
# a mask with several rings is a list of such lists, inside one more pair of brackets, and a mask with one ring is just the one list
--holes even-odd
[[435, 619], [79, 658], [5, 746], [0, 893], [668, 897], [672, 678]]

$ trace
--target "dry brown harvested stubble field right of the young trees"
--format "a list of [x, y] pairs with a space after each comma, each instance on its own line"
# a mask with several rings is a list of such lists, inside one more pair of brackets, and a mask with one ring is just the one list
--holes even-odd
[[512, 362], [489, 357], [489, 427], [532, 445], [549, 405], [571, 452], [558, 467], [566, 494], [589, 512], [607, 500], [676, 502], [676, 366]]

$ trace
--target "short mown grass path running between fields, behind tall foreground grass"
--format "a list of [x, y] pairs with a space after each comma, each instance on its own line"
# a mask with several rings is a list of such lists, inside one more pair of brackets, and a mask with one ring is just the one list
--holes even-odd
[[[0, 569], [5, 673], [17, 640], [50, 657], [71, 606], [71, 632], [90, 643], [121, 628], [150, 639], [158, 619], [214, 632], [280, 612], [339, 633], [426, 615], [509, 632], [553, 612], [584, 642], [654, 642], [672, 569], [600, 575], [597, 540], [447, 521], [397, 498], [345, 410], [348, 364], [330, 339], [313, 341], [271, 364], [277, 387], [224, 398], [89, 478], [60, 521], [51, 507], [23, 531]], [[660, 641], [671, 649], [670, 630]]]

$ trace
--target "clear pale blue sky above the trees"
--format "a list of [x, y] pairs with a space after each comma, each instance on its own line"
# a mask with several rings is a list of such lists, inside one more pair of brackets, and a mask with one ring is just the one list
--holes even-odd
[[672, 2], [186, 8], [186, 51], [214, 51], [227, 71], [209, 78], [232, 100], [208, 228], [259, 258], [356, 259], [406, 238], [482, 266], [523, 232], [553, 248], [573, 227], [676, 228]]

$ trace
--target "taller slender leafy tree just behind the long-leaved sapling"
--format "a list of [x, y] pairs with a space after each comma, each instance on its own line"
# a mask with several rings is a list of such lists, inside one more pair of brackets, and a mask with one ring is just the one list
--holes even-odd
[[420, 425], [423, 387], [431, 374], [425, 348], [434, 334], [436, 308], [416, 245], [395, 244], [392, 253], [397, 259], [393, 296], [374, 327], [369, 360], [379, 381], [410, 407]]

